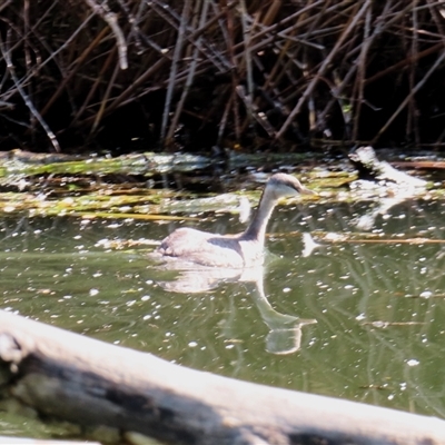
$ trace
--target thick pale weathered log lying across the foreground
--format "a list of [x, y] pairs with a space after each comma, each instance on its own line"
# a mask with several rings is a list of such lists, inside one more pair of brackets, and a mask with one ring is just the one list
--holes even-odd
[[445, 422], [239, 382], [0, 310], [0, 395], [175, 444], [444, 444]]

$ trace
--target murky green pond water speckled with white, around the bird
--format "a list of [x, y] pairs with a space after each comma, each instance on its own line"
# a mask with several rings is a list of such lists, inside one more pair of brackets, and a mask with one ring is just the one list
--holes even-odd
[[[121, 244], [180, 221], [7, 219], [0, 307], [197, 369], [445, 418], [444, 204], [406, 201], [363, 233], [374, 209], [279, 208], [263, 277], [241, 279], [160, 270], [147, 246]], [[244, 228], [228, 215], [187, 225]], [[301, 233], [319, 244], [306, 256]], [[26, 433], [17, 422], [0, 435]]]

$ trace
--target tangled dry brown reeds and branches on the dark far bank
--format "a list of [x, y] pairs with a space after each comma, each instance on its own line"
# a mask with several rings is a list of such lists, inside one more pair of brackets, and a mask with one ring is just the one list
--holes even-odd
[[8, 0], [0, 149], [442, 146], [445, 2]]

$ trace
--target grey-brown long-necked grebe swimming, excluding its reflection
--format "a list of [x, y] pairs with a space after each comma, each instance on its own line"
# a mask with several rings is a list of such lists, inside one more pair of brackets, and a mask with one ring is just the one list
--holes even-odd
[[237, 235], [217, 235], [192, 228], [179, 228], [165, 238], [156, 253], [209, 267], [243, 268], [264, 261], [266, 226], [280, 198], [313, 194], [290, 175], [273, 175], [249, 227]]

